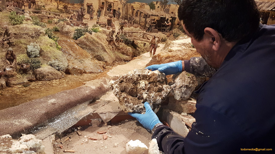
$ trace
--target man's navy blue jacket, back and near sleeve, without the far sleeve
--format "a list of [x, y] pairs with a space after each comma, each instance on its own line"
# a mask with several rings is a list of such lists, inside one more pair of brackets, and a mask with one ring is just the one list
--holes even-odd
[[275, 151], [275, 26], [260, 24], [251, 40], [236, 44], [198, 93], [191, 131], [184, 138], [168, 126], [159, 126], [152, 138], [160, 150], [169, 154]]

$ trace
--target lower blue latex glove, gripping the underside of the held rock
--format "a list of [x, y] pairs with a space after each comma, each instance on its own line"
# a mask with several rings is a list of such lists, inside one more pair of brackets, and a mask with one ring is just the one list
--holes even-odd
[[160, 123], [158, 116], [151, 109], [148, 102], [144, 103], [145, 114], [128, 113], [130, 116], [136, 118], [145, 128], [152, 130], [157, 123]]

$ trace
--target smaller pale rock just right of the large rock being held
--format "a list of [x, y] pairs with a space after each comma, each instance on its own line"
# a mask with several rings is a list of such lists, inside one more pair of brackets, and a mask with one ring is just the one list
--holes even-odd
[[175, 78], [174, 84], [171, 85], [171, 93], [176, 100], [186, 100], [197, 85], [196, 76], [184, 71]]

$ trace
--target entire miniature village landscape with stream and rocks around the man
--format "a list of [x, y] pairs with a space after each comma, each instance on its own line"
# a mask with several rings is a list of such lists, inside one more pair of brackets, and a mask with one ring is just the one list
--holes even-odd
[[[128, 115], [147, 101], [185, 137], [209, 76], [144, 69], [201, 57], [180, 2], [2, 0], [0, 153], [163, 153]], [[275, 2], [256, 3], [274, 24]]]

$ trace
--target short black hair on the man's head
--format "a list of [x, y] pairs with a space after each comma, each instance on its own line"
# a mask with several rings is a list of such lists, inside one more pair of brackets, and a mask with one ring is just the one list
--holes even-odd
[[213, 28], [229, 42], [251, 37], [260, 23], [254, 0], [182, 0], [178, 18], [198, 41], [206, 27]]

